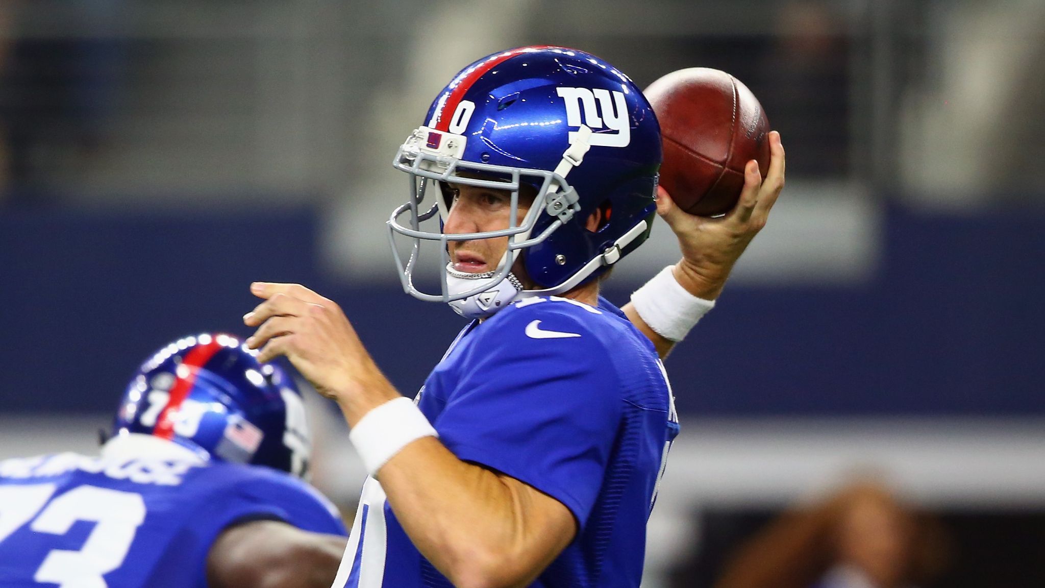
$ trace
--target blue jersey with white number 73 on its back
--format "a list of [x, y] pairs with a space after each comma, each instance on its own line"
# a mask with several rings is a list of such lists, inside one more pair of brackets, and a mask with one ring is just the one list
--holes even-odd
[[345, 534], [333, 506], [269, 468], [62, 453], [0, 461], [0, 585], [206, 588], [218, 534], [275, 519]]

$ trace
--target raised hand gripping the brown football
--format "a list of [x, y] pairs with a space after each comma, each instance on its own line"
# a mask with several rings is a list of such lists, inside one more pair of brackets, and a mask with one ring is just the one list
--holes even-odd
[[694, 296], [714, 300], [722, 293], [734, 264], [769, 218], [784, 189], [784, 145], [776, 131], [769, 133], [769, 171], [762, 178], [754, 160], [744, 167], [744, 188], [733, 210], [717, 219], [687, 213], [657, 187], [657, 214], [678, 238], [682, 259], [675, 279]]

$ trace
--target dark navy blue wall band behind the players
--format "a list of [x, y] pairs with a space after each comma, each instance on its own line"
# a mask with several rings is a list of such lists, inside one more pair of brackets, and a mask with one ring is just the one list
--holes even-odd
[[[108, 411], [178, 334], [246, 335], [254, 279], [345, 309], [405, 393], [461, 326], [390, 280], [343, 284], [317, 259], [318, 213], [0, 217], [0, 411]], [[924, 214], [892, 205], [883, 259], [846, 287], [727, 288], [668, 359], [681, 412], [1045, 415], [1045, 212]], [[389, 256], [385, 243], [358, 254]], [[392, 262], [389, 259], [392, 276]], [[394, 278], [393, 278], [394, 279]], [[631, 285], [610, 280], [627, 300]]]

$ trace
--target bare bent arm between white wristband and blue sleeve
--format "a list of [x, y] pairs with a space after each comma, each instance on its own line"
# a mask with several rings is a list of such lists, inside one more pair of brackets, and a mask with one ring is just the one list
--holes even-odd
[[414, 545], [459, 587], [527, 586], [573, 537], [550, 538], [531, 497], [434, 437], [407, 446], [378, 481]]

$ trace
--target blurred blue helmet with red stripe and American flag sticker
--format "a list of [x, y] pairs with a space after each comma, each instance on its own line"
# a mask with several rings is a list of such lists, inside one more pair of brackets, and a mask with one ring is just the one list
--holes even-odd
[[131, 380], [113, 434], [155, 435], [206, 459], [304, 476], [310, 439], [301, 392], [256, 355], [224, 334], [170, 343]]

